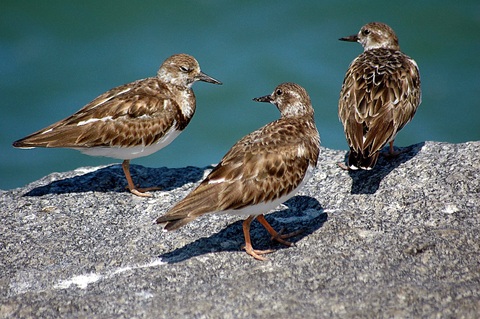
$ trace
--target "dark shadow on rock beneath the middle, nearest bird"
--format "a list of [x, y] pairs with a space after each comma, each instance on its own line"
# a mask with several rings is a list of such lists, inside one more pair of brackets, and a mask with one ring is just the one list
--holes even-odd
[[[285, 205], [288, 206], [287, 209], [268, 214], [266, 219], [277, 231], [282, 228], [285, 228], [285, 233], [301, 231], [288, 239], [294, 244], [322, 227], [328, 218], [320, 203], [309, 196], [295, 196], [285, 202]], [[240, 251], [245, 242], [242, 223], [243, 220], [237, 221], [212, 236], [197, 239], [159, 257], [162, 261], [173, 264], [212, 252]], [[265, 228], [256, 221], [251, 225], [250, 234], [254, 249], [289, 248], [272, 241]]]

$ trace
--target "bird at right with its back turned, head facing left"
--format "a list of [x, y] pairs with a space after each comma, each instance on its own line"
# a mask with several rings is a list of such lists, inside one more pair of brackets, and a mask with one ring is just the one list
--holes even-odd
[[420, 73], [384, 23], [367, 23], [358, 34], [339, 40], [359, 42], [364, 49], [351, 62], [340, 91], [338, 116], [350, 147], [347, 165], [340, 166], [370, 170], [387, 143], [387, 155], [400, 153], [393, 142], [421, 103]]

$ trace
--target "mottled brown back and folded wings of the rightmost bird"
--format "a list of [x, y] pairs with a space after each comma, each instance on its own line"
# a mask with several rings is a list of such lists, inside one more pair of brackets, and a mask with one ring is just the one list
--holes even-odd
[[413, 118], [421, 99], [415, 62], [398, 51], [376, 53], [372, 58], [367, 51], [352, 62], [339, 100], [339, 118], [348, 144], [369, 155]]

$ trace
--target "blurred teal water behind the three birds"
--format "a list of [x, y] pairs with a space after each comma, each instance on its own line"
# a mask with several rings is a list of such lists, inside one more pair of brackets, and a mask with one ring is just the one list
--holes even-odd
[[480, 2], [2, 1], [0, 189], [46, 174], [118, 163], [73, 150], [18, 150], [14, 140], [74, 113], [106, 90], [155, 75], [185, 52], [221, 80], [197, 83], [197, 113], [167, 148], [133, 164], [206, 166], [278, 118], [253, 97], [286, 81], [309, 92], [322, 145], [347, 149], [337, 118], [345, 71], [361, 51], [338, 41], [389, 24], [422, 77], [423, 103], [396, 145], [480, 139]]

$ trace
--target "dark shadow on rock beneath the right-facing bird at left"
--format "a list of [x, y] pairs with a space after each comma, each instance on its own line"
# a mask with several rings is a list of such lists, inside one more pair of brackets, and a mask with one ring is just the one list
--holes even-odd
[[[209, 167], [148, 168], [141, 165], [131, 165], [130, 172], [134, 183], [139, 185], [139, 187], [159, 187], [162, 191], [169, 191], [181, 187], [186, 183], [197, 182], [203, 177], [204, 171], [208, 168]], [[48, 178], [48, 176], [46, 178]], [[40, 182], [42, 182], [42, 180], [40, 180]], [[66, 177], [46, 185], [37, 186], [23, 196], [83, 192], [123, 193], [128, 192], [126, 186], [127, 180], [123, 173], [122, 166], [115, 164], [83, 175]]]

